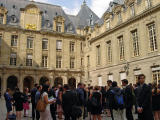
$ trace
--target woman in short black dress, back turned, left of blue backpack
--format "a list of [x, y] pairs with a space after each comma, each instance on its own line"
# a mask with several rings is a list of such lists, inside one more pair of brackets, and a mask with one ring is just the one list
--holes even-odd
[[95, 86], [94, 92], [91, 96], [91, 114], [93, 120], [101, 120], [102, 114], [102, 94], [99, 92], [100, 88]]

